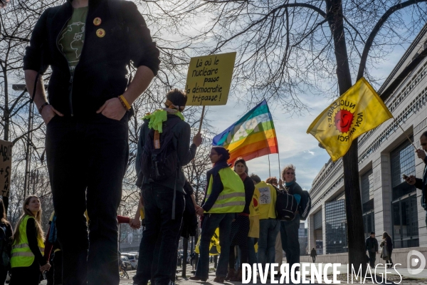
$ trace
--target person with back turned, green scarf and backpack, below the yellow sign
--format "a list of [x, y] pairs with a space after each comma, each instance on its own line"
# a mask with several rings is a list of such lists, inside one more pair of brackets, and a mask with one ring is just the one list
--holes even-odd
[[[165, 111], [166, 120], [162, 128], [169, 123], [174, 124], [170, 132], [173, 134], [172, 142], [176, 149], [179, 170], [165, 180], [152, 180], [142, 175], [138, 186], [142, 189], [142, 202], [145, 212], [145, 230], [139, 245], [139, 259], [137, 274], [133, 277], [134, 284], [146, 285], [152, 280], [153, 285], [166, 285], [171, 281], [172, 268], [176, 266], [178, 240], [181, 231], [181, 221], [184, 214], [185, 198], [184, 185], [186, 178], [182, 167], [193, 160], [196, 149], [201, 145], [201, 134], [193, 138], [190, 145], [191, 128], [181, 117], [181, 111], [186, 105], [186, 94], [179, 89], [170, 90], [165, 98], [165, 107], [153, 113]], [[141, 161], [144, 146], [149, 143], [147, 134], [155, 130], [156, 124], [150, 124], [153, 118], [144, 120], [139, 133], [138, 152], [135, 168], [138, 175], [142, 173]], [[178, 122], [176, 123], [176, 120]], [[162, 133], [162, 135], [167, 135]], [[172, 212], [175, 204], [175, 212]], [[174, 213], [174, 219], [172, 214]], [[158, 248], [158, 250], [156, 250]], [[157, 253], [158, 252], [158, 253]], [[156, 254], [156, 257], [154, 257]], [[154, 264], [157, 263], [157, 264]], [[156, 269], [152, 272], [152, 269]]]

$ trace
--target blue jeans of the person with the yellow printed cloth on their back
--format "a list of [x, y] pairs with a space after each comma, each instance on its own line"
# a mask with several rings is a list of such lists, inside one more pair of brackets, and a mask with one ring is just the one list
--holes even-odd
[[[258, 263], [274, 263], [275, 240], [280, 230], [278, 219], [260, 219], [260, 238], [258, 239]], [[264, 268], [264, 267], [263, 267]]]

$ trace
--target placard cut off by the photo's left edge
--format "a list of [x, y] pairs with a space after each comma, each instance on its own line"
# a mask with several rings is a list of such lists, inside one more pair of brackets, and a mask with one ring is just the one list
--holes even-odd
[[11, 187], [12, 143], [0, 140], [0, 190], [1, 196], [9, 197]]

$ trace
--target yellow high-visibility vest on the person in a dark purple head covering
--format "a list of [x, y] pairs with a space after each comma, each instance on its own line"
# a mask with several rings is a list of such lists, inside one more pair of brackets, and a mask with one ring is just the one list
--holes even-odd
[[[226, 167], [219, 170], [218, 175], [221, 177], [224, 189], [219, 193], [214, 206], [208, 211], [211, 214], [221, 213], [241, 213], [245, 208], [245, 186], [236, 172]], [[209, 179], [208, 192], [206, 193], [205, 202], [212, 193], [212, 184], [214, 178]]]

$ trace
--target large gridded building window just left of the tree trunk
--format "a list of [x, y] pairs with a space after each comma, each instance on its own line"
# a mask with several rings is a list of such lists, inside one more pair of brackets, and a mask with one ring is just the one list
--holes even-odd
[[326, 253], [347, 252], [347, 222], [345, 200], [325, 203], [326, 217]]

